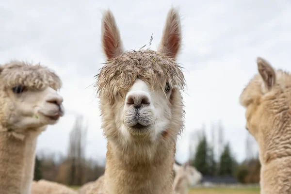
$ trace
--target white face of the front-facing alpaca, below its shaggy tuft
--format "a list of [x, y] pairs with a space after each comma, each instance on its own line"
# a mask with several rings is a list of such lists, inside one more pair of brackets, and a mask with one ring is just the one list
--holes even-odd
[[[164, 93], [165, 92], [165, 93]], [[146, 136], [155, 141], [171, 122], [172, 88], [165, 85], [164, 90], [151, 90], [150, 85], [137, 79], [129, 89], [119, 116], [121, 132], [126, 138]]]

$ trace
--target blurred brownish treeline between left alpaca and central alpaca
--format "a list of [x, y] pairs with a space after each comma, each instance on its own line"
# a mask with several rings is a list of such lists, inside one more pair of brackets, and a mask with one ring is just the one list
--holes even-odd
[[38, 153], [35, 158], [34, 180], [46, 179], [65, 185], [81, 186], [104, 174], [104, 164], [85, 158], [87, 127], [83, 117], [77, 116], [70, 132], [66, 156], [56, 153]]

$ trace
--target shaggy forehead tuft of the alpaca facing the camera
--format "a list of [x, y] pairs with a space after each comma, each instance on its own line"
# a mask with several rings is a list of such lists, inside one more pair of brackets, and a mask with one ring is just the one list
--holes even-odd
[[139, 78], [148, 82], [152, 88], [163, 88], [166, 82], [184, 89], [185, 79], [179, 66], [173, 59], [157, 51], [138, 50], [122, 53], [109, 59], [96, 75], [97, 94], [111, 97], [127, 91]]

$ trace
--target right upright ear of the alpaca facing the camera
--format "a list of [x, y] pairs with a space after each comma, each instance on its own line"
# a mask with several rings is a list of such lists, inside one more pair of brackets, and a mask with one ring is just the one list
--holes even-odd
[[176, 59], [181, 48], [181, 39], [180, 16], [176, 9], [171, 8], [168, 12], [158, 51]]

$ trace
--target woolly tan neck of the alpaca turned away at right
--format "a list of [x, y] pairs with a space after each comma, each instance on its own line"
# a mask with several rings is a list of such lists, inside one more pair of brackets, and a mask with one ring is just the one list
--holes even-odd
[[261, 194], [291, 194], [290, 121], [270, 124], [275, 130], [265, 130], [269, 132], [259, 139]]

